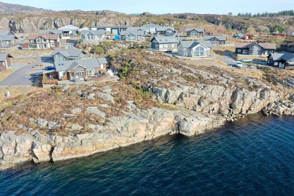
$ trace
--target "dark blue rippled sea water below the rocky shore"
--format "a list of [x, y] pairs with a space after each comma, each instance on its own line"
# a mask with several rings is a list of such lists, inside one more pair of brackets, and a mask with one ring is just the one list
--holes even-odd
[[0, 172], [0, 195], [294, 195], [294, 117]]

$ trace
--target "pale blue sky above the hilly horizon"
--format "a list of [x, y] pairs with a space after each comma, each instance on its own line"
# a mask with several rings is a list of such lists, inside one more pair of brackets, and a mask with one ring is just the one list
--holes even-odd
[[[166, 13], [196, 13], [196, 14], [228, 14], [239, 12], [278, 12], [294, 9], [294, 0], [0, 0], [4, 3], [33, 6], [43, 9], [61, 10], [111, 10], [126, 14], [151, 12], [152, 14]], [[154, 2], [154, 4], [153, 4]]]

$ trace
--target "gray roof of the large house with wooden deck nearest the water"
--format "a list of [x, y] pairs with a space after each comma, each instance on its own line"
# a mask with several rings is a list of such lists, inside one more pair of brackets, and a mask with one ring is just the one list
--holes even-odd
[[73, 61], [55, 61], [54, 67], [56, 71], [70, 71], [76, 66], [80, 65], [87, 69], [100, 67], [100, 64], [107, 64], [105, 58], [87, 58], [81, 60], [73, 60]]

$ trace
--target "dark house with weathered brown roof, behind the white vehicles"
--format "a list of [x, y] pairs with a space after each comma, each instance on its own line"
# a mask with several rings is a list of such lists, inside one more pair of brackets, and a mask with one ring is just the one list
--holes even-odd
[[235, 54], [240, 55], [254, 55], [254, 56], [268, 56], [271, 53], [275, 53], [277, 49], [275, 43], [257, 43], [253, 41], [237, 42], [235, 45]]

